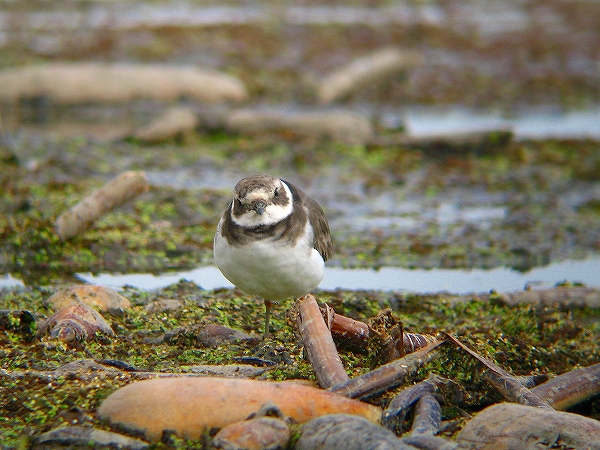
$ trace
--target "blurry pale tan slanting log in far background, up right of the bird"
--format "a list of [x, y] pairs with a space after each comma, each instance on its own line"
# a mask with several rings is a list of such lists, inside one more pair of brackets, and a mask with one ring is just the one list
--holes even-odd
[[366, 84], [379, 82], [421, 64], [422, 60], [419, 53], [391, 47], [355, 59], [325, 77], [317, 89], [318, 101], [322, 104], [334, 102]]

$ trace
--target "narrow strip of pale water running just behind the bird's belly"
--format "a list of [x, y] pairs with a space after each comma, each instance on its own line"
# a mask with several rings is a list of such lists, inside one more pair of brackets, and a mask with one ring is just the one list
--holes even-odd
[[[567, 260], [518, 272], [508, 268], [490, 270], [473, 269], [400, 269], [386, 267], [372, 269], [327, 268], [320, 289], [384, 290], [419, 293], [450, 292], [453, 294], [481, 293], [495, 290], [513, 292], [533, 288], [549, 288], [563, 281], [583, 283], [600, 287], [600, 258]], [[138, 274], [78, 274], [85, 283], [99, 284], [115, 289], [132, 286], [137, 289], [154, 290], [177, 283], [181, 279], [192, 281], [204, 289], [230, 288], [216, 267], [200, 267], [185, 272], [153, 275]], [[10, 275], [0, 277], [0, 287], [22, 286], [23, 283]]]

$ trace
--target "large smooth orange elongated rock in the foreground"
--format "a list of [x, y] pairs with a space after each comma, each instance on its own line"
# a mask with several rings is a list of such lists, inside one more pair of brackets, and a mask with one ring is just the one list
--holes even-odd
[[198, 439], [204, 430], [244, 420], [269, 402], [296, 422], [331, 413], [381, 417], [376, 406], [301, 384], [215, 377], [134, 382], [104, 400], [97, 415], [152, 441], [164, 430]]

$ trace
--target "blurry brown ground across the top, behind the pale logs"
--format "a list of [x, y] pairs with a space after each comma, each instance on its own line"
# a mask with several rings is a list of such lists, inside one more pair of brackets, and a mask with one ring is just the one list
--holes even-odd
[[[404, 61], [323, 98], [327, 75], [383, 48]], [[600, 100], [599, 52], [600, 2], [589, 0], [4, 0], [0, 8], [0, 69], [192, 65], [235, 76], [251, 103], [589, 108]]]

